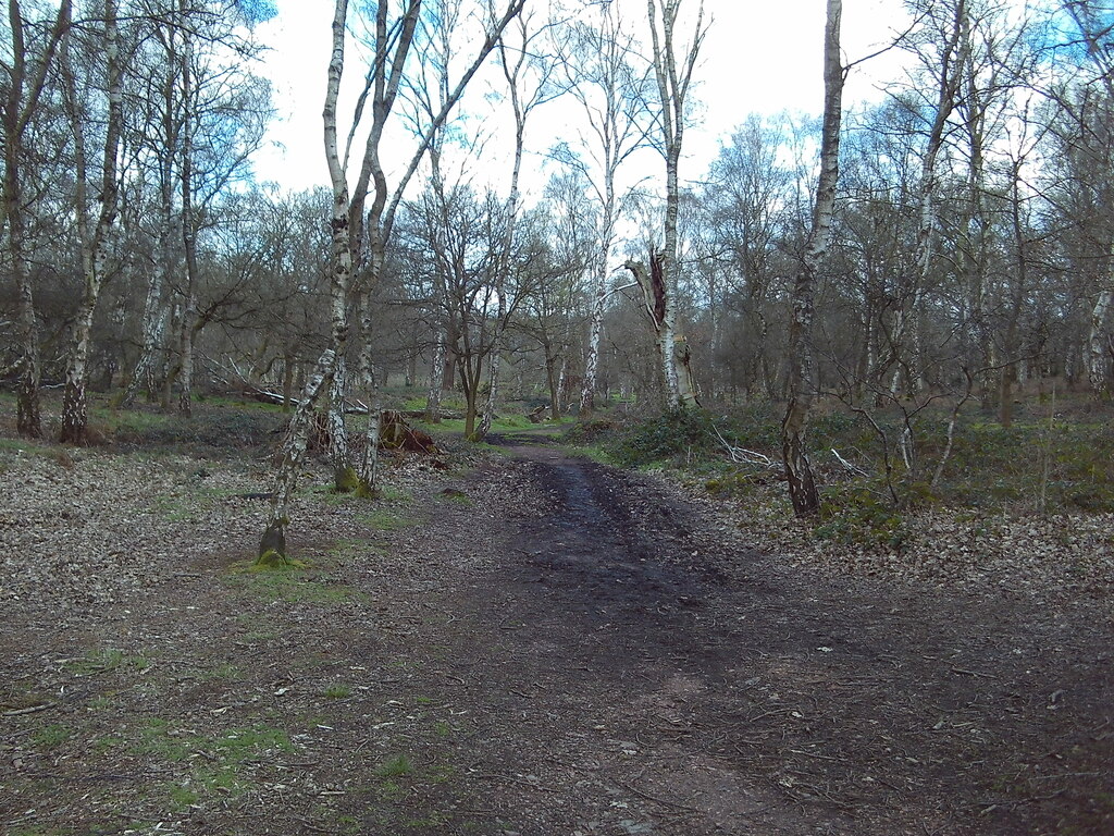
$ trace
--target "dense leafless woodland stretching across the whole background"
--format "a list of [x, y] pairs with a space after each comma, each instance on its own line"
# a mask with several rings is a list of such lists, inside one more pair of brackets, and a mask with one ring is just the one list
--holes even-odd
[[[266, 2], [12, 0], [0, 367], [19, 432], [85, 443], [89, 390], [188, 415], [246, 386], [300, 405], [284, 474], [328, 412], [338, 484], [373, 490], [377, 422], [356, 461], [344, 405], [400, 390], [432, 417], [455, 392], [476, 439], [509, 400], [556, 418], [807, 390], [860, 412], [980, 402], [1008, 427], [1026, 392], [1107, 398], [1114, 10], [908, 0], [889, 46], [908, 72], [859, 105], [840, 87], [871, 59], [840, 50], [828, 7], [827, 118], [746, 116], [743, 94], [716, 159], [681, 177], [716, 25], [698, 0], [340, 0], [328, 71], [305, 68], [331, 183], [289, 194], [252, 171]], [[578, 124], [528, 197], [547, 108]], [[514, 138], [496, 184], [494, 119]], [[814, 319], [794, 333], [802, 275]]]

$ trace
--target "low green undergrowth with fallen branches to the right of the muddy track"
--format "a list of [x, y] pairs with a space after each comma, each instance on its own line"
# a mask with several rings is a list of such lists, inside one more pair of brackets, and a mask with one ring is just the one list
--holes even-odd
[[[1093, 412], [1049, 422], [1048, 411], [1034, 404], [1024, 420], [1003, 427], [973, 408], [957, 421], [948, 451], [944, 408], [911, 418], [899, 410], [818, 410], [807, 436], [821, 493], [815, 534], [899, 548], [908, 514], [922, 507], [1114, 512], [1114, 422]], [[780, 408], [756, 405], [629, 424], [597, 418], [576, 425], [564, 441], [596, 460], [683, 472], [710, 493], [745, 500], [760, 488], [784, 492], [780, 434]], [[743, 453], [732, 460], [729, 447]]]

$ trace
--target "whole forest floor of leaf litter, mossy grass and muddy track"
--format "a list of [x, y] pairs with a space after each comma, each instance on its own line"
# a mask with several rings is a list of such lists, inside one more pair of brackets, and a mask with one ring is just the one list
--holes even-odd
[[1114, 833], [1108, 595], [810, 572], [495, 440], [314, 465], [286, 573], [262, 454], [0, 446], [0, 832]]

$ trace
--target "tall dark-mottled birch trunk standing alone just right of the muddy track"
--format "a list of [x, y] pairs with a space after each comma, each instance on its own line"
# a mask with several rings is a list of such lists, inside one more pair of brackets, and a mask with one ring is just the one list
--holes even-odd
[[789, 496], [798, 516], [820, 509], [820, 495], [805, 448], [805, 429], [815, 392], [812, 325], [817, 275], [831, 242], [839, 179], [839, 144], [843, 106], [843, 67], [840, 62], [841, 0], [828, 0], [824, 27], [824, 115], [820, 139], [820, 174], [812, 211], [812, 229], [793, 282], [789, 322], [789, 405], [781, 426], [782, 461]]

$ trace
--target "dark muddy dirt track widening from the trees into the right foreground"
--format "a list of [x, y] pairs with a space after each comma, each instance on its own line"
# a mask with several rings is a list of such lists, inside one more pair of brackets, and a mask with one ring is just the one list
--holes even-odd
[[510, 453], [539, 502], [488, 527], [457, 645], [508, 829], [1107, 832], [1111, 682], [1063, 647], [1106, 628], [810, 583], [661, 483]]

